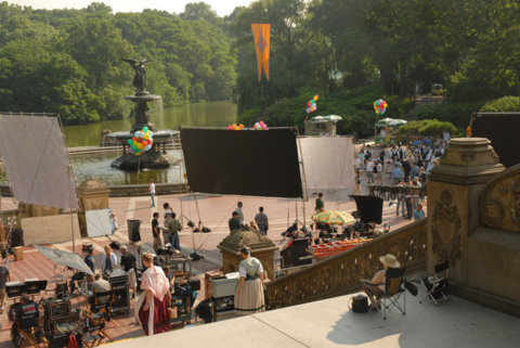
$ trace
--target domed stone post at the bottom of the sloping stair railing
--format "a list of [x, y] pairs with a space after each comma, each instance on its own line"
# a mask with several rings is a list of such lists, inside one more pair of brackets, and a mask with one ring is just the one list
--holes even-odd
[[226, 236], [218, 248], [222, 253], [222, 268], [224, 273], [238, 272], [242, 261], [240, 249], [248, 246], [251, 256], [262, 262], [263, 271], [269, 280], [274, 280], [274, 252], [276, 244], [262, 232], [256, 230], [236, 230]]

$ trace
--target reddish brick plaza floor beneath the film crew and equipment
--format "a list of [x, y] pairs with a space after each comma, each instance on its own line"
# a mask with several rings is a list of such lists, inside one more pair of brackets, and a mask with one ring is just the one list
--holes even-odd
[[[325, 193], [325, 208], [326, 209], [340, 209], [352, 211], [355, 209], [355, 203], [346, 202], [337, 204], [332, 202], [334, 199], [335, 193]], [[196, 201], [196, 202], [195, 202]], [[204, 279], [204, 272], [209, 270], [214, 270], [221, 267], [221, 254], [217, 248], [217, 245], [229, 235], [227, 220], [231, 217], [231, 212], [236, 207], [236, 202], [242, 201], [244, 203], [244, 215], [245, 221], [250, 221], [253, 219], [255, 215], [258, 212], [258, 207], [263, 206], [265, 214], [270, 218], [270, 230], [269, 236], [278, 245], [283, 247], [287, 241], [284, 241], [284, 237], [281, 236], [281, 233], [285, 231], [288, 224], [291, 224], [296, 219], [296, 204], [295, 201], [280, 199], [280, 198], [264, 198], [264, 197], [244, 197], [244, 196], [230, 196], [230, 195], [203, 195], [197, 194], [196, 199], [193, 195], [165, 195], [156, 197], [156, 207], [151, 207], [151, 199], [148, 196], [141, 197], [114, 197], [109, 198], [109, 206], [117, 216], [119, 228], [116, 233], [110, 236], [112, 240], [118, 241], [120, 243], [128, 245], [128, 232], [126, 220], [127, 219], [140, 219], [142, 220], [141, 224], [141, 237], [142, 243], [152, 245], [152, 232], [151, 232], [151, 221], [152, 214], [154, 211], [159, 211], [160, 219], [162, 220], [164, 209], [162, 204], [168, 202], [172, 206], [173, 211], [178, 215], [181, 211], [182, 214], [195, 223], [198, 221], [198, 216], [196, 211], [196, 206], [200, 211], [200, 219], [205, 225], [209, 227], [212, 232], [210, 233], [194, 233], [193, 237], [195, 241], [195, 248], [199, 255], [204, 256], [203, 260], [192, 262], [192, 272]], [[14, 208], [15, 204], [11, 198], [2, 198], [1, 208], [11, 209]], [[310, 199], [306, 203], [306, 221], [307, 224], [310, 223], [310, 217], [313, 212], [314, 199]], [[298, 218], [303, 220], [302, 214], [302, 204], [298, 203]], [[395, 206], [389, 207], [385, 203], [384, 208], [384, 222], [390, 223], [392, 230], [395, 230], [400, 227], [403, 227], [410, 222], [402, 217], [395, 217]], [[184, 224], [185, 225], [185, 224]], [[193, 253], [193, 239], [191, 230], [184, 229], [181, 234], [181, 247], [183, 254]], [[95, 263], [96, 267], [101, 267], [101, 255], [103, 253], [103, 246], [108, 242], [106, 237], [96, 237], [96, 239], [84, 239], [82, 241], [76, 242], [76, 252], [81, 254], [81, 243], [82, 242], [92, 242], [95, 249]], [[51, 247], [56, 247], [64, 250], [72, 250], [72, 242], [49, 245]], [[130, 252], [136, 255], [136, 246], [130, 245]], [[116, 250], [118, 258], [120, 253]], [[23, 261], [12, 261], [10, 258], [9, 268], [11, 270], [12, 280], [23, 281], [29, 278], [38, 279], [49, 279], [48, 288], [52, 289], [55, 284], [55, 279], [52, 279], [55, 274], [53, 262], [49, 261], [41, 253], [36, 250], [32, 247], [24, 248], [24, 260]], [[56, 273], [62, 273], [63, 267], [56, 268]], [[72, 274], [69, 273], [68, 276]], [[205, 298], [204, 294], [204, 284], [203, 288], [198, 292], [198, 298]], [[52, 293], [48, 294], [49, 297]], [[82, 297], [77, 297], [74, 299], [76, 306], [80, 306], [84, 302]], [[11, 301], [8, 301], [11, 304]], [[132, 301], [133, 306], [133, 301]], [[6, 314], [0, 315], [0, 347], [3, 347], [5, 344], [10, 345], [10, 324], [6, 319]], [[134, 319], [132, 315], [120, 315], [117, 317], [112, 323], [108, 324], [108, 334], [115, 339], [125, 339], [142, 335], [142, 331], [139, 326], [135, 325]], [[9, 346], [8, 346], [9, 347]]]

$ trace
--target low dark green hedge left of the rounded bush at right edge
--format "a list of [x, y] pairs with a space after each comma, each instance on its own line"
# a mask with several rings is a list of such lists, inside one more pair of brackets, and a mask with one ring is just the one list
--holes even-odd
[[452, 123], [455, 127], [466, 128], [471, 120], [471, 114], [482, 107], [480, 103], [438, 103], [422, 106], [417, 113], [418, 119], [438, 119]]

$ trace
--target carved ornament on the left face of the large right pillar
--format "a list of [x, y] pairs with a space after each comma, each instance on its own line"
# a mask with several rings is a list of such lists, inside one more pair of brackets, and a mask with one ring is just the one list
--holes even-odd
[[460, 259], [460, 217], [457, 207], [452, 205], [451, 193], [445, 190], [437, 203], [432, 217], [432, 250], [440, 260], [448, 260], [455, 265]]

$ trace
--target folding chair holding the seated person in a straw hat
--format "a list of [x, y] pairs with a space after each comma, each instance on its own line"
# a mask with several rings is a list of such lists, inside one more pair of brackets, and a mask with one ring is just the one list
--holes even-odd
[[[382, 306], [382, 319], [387, 319], [392, 308], [396, 308], [401, 313], [406, 314], [406, 291], [401, 286], [404, 284], [404, 271], [406, 267], [389, 268], [385, 273], [385, 295], [380, 297]], [[403, 306], [399, 299], [403, 296]]]

